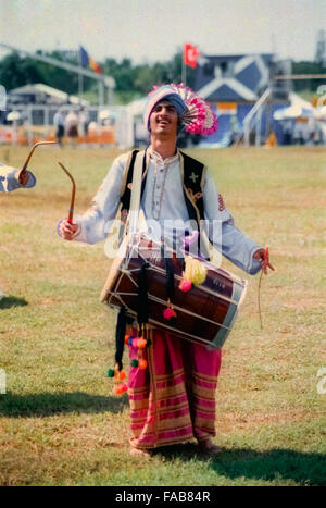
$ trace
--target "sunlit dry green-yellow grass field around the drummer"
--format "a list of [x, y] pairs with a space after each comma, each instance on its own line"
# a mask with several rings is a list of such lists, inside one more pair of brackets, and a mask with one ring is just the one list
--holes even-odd
[[[70, 202], [58, 160], [76, 177], [83, 212], [118, 151], [37, 150], [37, 186], [0, 196], [0, 484], [325, 485], [325, 149], [190, 153], [209, 164], [238, 227], [269, 246], [277, 271], [262, 281], [261, 330], [259, 275], [223, 264], [249, 289], [223, 348], [222, 453], [206, 458], [190, 443], [149, 459], [129, 456], [127, 396], [111, 395], [106, 377], [115, 313], [99, 303], [103, 244], [55, 233]], [[0, 147], [0, 161], [20, 166], [26, 153]]]

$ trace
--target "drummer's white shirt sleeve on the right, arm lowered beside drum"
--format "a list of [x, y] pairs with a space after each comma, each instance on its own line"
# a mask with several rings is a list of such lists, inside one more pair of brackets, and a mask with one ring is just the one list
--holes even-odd
[[244, 272], [251, 275], [258, 273], [261, 264], [253, 255], [261, 247], [236, 227], [234, 218], [225, 207], [223, 197], [209, 173], [205, 177], [203, 199], [208, 236], [215, 249]]

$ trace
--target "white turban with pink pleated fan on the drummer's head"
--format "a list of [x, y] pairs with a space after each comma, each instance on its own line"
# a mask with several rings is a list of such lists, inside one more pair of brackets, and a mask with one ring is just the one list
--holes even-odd
[[183, 83], [153, 87], [153, 90], [149, 94], [143, 114], [146, 127], [149, 125], [149, 119], [154, 106], [164, 98], [168, 100], [168, 96], [178, 97], [178, 99], [181, 99], [180, 102], [185, 104], [185, 109], [181, 112], [178, 111], [178, 114], [186, 131], [202, 136], [210, 136], [217, 131], [217, 117], [212, 107]]

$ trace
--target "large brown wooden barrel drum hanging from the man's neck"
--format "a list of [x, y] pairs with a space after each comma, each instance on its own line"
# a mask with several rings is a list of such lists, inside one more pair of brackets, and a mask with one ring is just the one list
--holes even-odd
[[163, 318], [168, 298], [166, 270], [161, 252], [162, 244], [145, 235], [138, 236], [131, 243], [123, 243], [111, 265], [101, 301], [114, 308], [125, 307], [127, 315], [137, 318], [141, 305], [140, 273], [146, 267], [149, 324], [210, 348], [221, 348], [243, 301], [247, 281], [200, 259], [206, 269], [205, 281], [184, 293], [178, 288], [183, 277], [183, 258], [172, 252], [172, 305], [177, 315], [167, 321]]

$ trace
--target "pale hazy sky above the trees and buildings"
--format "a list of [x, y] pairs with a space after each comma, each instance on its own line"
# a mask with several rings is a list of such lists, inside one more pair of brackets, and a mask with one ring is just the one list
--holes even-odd
[[[313, 60], [326, 0], [0, 0], [0, 42], [34, 52], [84, 46], [96, 61], [276, 52]], [[0, 48], [0, 58], [5, 54]]]

